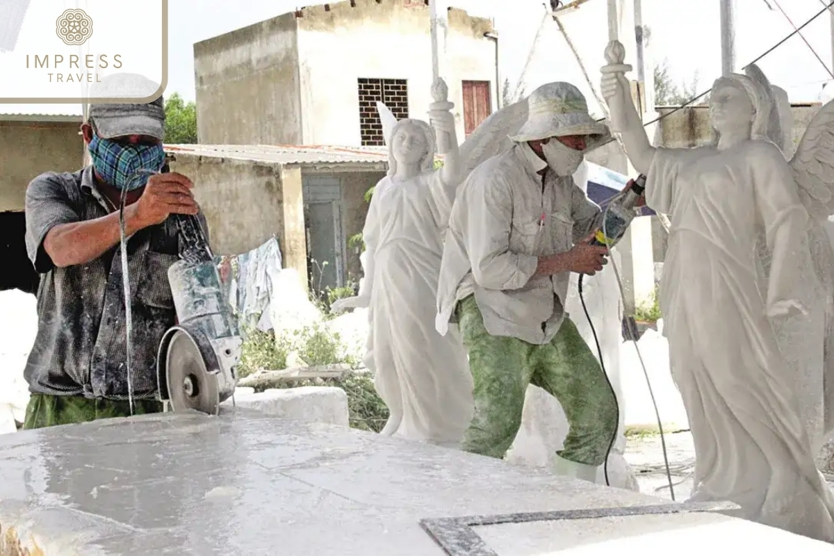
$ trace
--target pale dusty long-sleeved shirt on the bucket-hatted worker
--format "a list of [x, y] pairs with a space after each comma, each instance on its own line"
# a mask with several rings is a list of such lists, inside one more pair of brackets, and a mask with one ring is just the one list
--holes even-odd
[[539, 257], [565, 253], [598, 225], [600, 208], [526, 143], [490, 158], [460, 188], [440, 266], [436, 328], [475, 294], [487, 332], [548, 343], [565, 318], [570, 273], [533, 278]]

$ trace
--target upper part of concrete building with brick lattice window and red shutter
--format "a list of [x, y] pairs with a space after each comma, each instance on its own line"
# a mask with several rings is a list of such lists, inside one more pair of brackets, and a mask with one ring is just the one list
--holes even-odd
[[[497, 107], [493, 33], [490, 20], [450, 8], [445, 78], [460, 138]], [[426, 0], [285, 13], [194, 45], [198, 142], [379, 146], [375, 101], [427, 118], [431, 68]]]

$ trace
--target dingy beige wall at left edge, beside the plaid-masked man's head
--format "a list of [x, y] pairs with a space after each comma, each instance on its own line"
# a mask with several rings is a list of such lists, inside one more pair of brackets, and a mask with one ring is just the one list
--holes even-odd
[[0, 122], [0, 212], [23, 210], [26, 187], [38, 174], [82, 167], [78, 122]]

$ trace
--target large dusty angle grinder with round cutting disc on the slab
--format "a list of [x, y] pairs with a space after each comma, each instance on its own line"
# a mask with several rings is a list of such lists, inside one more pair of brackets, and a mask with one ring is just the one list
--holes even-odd
[[195, 216], [176, 214], [180, 260], [168, 268], [178, 323], [159, 343], [157, 380], [166, 410], [217, 415], [238, 383], [243, 339]]

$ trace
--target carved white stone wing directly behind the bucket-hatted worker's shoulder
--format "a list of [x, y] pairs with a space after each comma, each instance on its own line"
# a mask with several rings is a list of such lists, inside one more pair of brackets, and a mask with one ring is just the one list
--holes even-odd
[[460, 146], [460, 178], [467, 178], [480, 163], [510, 148], [510, 135], [518, 132], [526, 121], [526, 98], [486, 118]]

